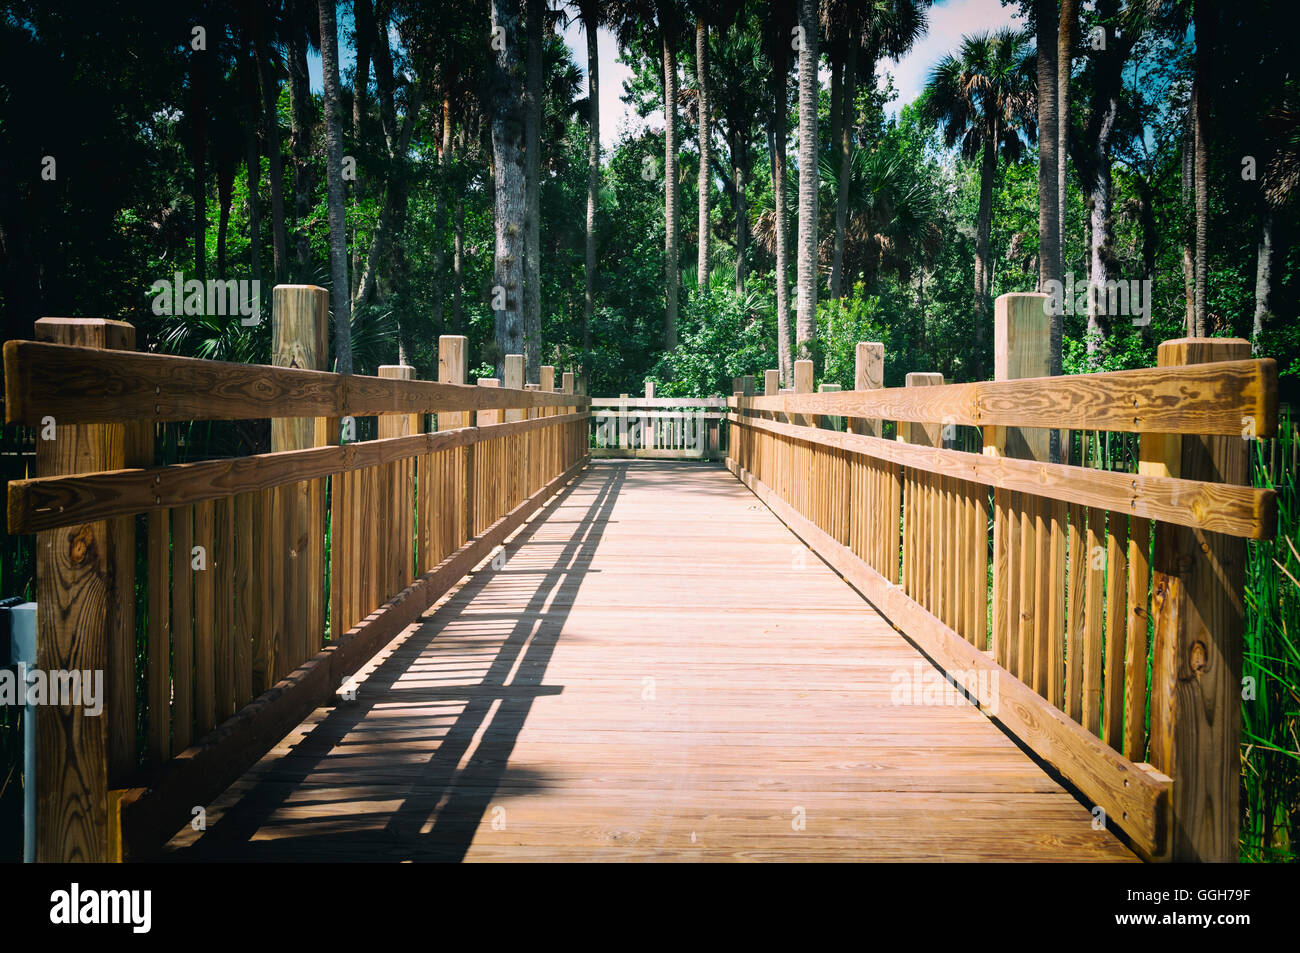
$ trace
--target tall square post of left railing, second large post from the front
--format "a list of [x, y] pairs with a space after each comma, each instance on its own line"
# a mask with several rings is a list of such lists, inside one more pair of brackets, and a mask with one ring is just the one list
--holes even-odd
[[[315, 285], [276, 285], [270, 294], [270, 363], [329, 369], [329, 291]], [[326, 428], [317, 428], [312, 417], [272, 419], [270, 449], [313, 447], [317, 429]], [[274, 657], [285, 666], [278, 670], [283, 675], [320, 649], [325, 631], [325, 488], [320, 481], [303, 481], [272, 495], [276, 506], [283, 507], [268, 523], [272, 546], [283, 553], [285, 575], [282, 608], [273, 614], [281, 624], [274, 636], [268, 636], [273, 638]], [[216, 529], [220, 533], [222, 528]], [[224, 638], [229, 640], [230, 633], [216, 633], [218, 676]]]

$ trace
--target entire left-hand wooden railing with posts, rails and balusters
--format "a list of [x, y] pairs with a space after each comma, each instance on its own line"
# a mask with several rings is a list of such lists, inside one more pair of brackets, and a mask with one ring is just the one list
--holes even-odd
[[[36, 534], [38, 666], [107, 689], [103, 715], [39, 712], [38, 859], [148, 857], [588, 459], [571, 373], [525, 389], [511, 355], [507, 387], [465, 386], [443, 337], [437, 382], [333, 374], [325, 291], [273, 302], [274, 367], [138, 354], [114, 321], [5, 345], [6, 421], [43, 437], [8, 499]], [[161, 421], [266, 417], [269, 454], [152, 465]]]

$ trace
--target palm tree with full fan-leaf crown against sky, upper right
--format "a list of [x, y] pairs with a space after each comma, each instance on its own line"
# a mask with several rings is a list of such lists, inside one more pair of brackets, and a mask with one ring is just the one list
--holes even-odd
[[1028, 38], [1011, 29], [962, 38], [956, 56], [939, 61], [924, 92], [924, 114], [936, 122], [949, 148], [961, 143], [962, 156], [980, 160], [979, 213], [975, 225], [975, 346], [976, 373], [985, 373], [985, 334], [989, 324], [989, 233], [997, 160], [1015, 161], [1034, 133], [1035, 66]]

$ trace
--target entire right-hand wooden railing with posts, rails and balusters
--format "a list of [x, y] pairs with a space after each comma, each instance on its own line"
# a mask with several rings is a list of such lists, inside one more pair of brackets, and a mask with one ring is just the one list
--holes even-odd
[[[1040, 377], [1045, 321], [1040, 295], [998, 299], [987, 384], [879, 389], [859, 345], [858, 389], [812, 394], [800, 361], [796, 393], [732, 398], [728, 465], [1140, 853], [1235, 859], [1245, 540], [1277, 523], [1244, 484], [1274, 363], [1184, 339], [1153, 369]], [[982, 454], [942, 449], [961, 426]], [[1136, 434], [1138, 472], [1054, 463], [1052, 429], [1065, 459], [1071, 432]]]

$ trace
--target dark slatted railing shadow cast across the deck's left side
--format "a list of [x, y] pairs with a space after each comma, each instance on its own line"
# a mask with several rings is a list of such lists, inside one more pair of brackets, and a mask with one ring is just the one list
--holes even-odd
[[[572, 608], [577, 585], [573, 585], [567, 595], [562, 594], [560, 589], [567, 582], [581, 584], [582, 577], [593, 571], [592, 556], [599, 545], [603, 527], [608, 524], [608, 515], [627, 478], [627, 469], [625, 465], [595, 464], [593, 472], [607, 471], [599, 482], [580, 480], [569, 484], [523, 528], [519, 536], [506, 543], [507, 555], [528, 543], [580, 485], [595, 490], [585, 515], [580, 520], [569, 521], [584, 528], [573, 530], [555, 554], [554, 564], [540, 573], [526, 606], [504, 616], [491, 616], [494, 620], [512, 618], [515, 621], [510, 633], [495, 649], [495, 655], [481, 681], [446, 688], [399, 686], [403, 676], [428, 663], [425, 650], [430, 646], [437, 647], [441, 640], [448, 638], [447, 629], [464, 618], [462, 611], [482, 593], [488, 582], [511, 572], [508, 562], [499, 571], [476, 573], [447, 603], [433, 610], [430, 616], [406, 638], [400, 649], [369, 675], [359, 693], [358, 703], [333, 709], [290, 754], [281, 757], [270, 777], [259, 780], [251, 789], [243, 792], [238, 802], [231, 805], [230, 810], [200, 839], [170, 852], [169, 859], [290, 861], [347, 855], [354, 859], [376, 861], [460, 861], [503, 780], [508, 779], [516, 790], [545, 787], [545, 779], [510, 768], [510, 757], [533, 701], [538, 696], [563, 692], [562, 685], [543, 683], [556, 640]], [[446, 614], [446, 619], [441, 623], [434, 620], [439, 614]], [[450, 636], [450, 638], [456, 637]], [[376, 706], [393, 701], [412, 706], [464, 701], [464, 707], [419, 772], [410, 780], [394, 785], [404, 790], [402, 803], [390, 814], [382, 831], [367, 824], [365, 829], [343, 829], [300, 837], [287, 833], [272, 840], [252, 840], [276, 811], [287, 805], [287, 796], [299, 790], [298, 785], [307, 780], [326, 757], [338, 757], [338, 748], [343, 740], [352, 736]], [[430, 737], [437, 735], [424, 735], [419, 740]], [[476, 737], [480, 738], [477, 745]], [[352, 740], [355, 742], [355, 736]], [[465, 761], [467, 754], [469, 754], [468, 761]], [[356, 788], [364, 781], [365, 772], [358, 771], [355, 780], [342, 783], [339, 787]], [[359, 800], [370, 801], [376, 797], [384, 798], [384, 794], [348, 797], [339, 803], [356, 803]], [[313, 801], [316, 806], [322, 802], [328, 803], [328, 801]], [[341, 814], [337, 822], [346, 824], [347, 818], [347, 814]], [[320, 819], [312, 820], [318, 823]], [[286, 824], [283, 819], [277, 819], [276, 826], [283, 829]]]

